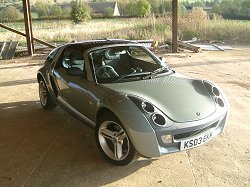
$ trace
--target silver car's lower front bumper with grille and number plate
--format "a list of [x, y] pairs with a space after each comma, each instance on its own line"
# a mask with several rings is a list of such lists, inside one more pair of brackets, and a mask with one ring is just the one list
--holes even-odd
[[[190, 148], [198, 147], [221, 134], [225, 128], [227, 113], [221, 116], [210, 116], [196, 122], [174, 124], [175, 129], [155, 130], [160, 156]], [[184, 128], [177, 128], [183, 126]], [[172, 143], [164, 143], [163, 135], [172, 135]]]

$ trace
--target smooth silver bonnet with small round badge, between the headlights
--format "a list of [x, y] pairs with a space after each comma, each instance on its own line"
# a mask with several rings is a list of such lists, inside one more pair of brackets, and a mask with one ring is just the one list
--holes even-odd
[[216, 110], [216, 105], [202, 80], [189, 79], [177, 73], [105, 86], [151, 102], [175, 122], [200, 120]]

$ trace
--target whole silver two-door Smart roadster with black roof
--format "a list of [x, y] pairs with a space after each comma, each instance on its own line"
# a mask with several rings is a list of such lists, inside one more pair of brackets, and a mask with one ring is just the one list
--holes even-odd
[[207, 143], [223, 131], [228, 114], [214, 83], [181, 75], [127, 40], [53, 49], [37, 80], [43, 108], [60, 105], [93, 127], [100, 152], [116, 165]]

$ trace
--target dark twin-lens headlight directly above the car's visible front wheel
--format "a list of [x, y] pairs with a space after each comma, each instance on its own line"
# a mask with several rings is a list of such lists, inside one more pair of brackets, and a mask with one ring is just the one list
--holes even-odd
[[173, 122], [150, 102], [135, 96], [128, 98], [142, 111], [151, 124], [158, 127], [170, 127]]

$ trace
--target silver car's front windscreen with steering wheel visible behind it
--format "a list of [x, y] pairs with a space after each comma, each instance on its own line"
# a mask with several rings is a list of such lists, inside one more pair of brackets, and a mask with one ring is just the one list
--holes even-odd
[[[89, 58], [98, 83], [140, 80], [163, 67], [150, 51], [141, 46], [101, 48], [90, 52]], [[167, 71], [162, 70], [157, 72]]]

